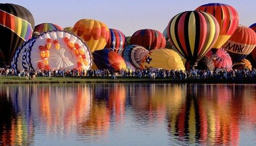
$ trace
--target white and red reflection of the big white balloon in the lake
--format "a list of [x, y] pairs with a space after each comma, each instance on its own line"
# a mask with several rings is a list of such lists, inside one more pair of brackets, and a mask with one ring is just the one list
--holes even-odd
[[[89, 116], [91, 93], [85, 84], [73, 84], [75, 95], [68, 88], [58, 88], [57, 85], [43, 85], [38, 97], [39, 117], [45, 123], [46, 132], [68, 133], [70, 127], [76, 126]], [[59, 91], [57, 91], [59, 90]], [[58, 98], [54, 98], [58, 97]]]

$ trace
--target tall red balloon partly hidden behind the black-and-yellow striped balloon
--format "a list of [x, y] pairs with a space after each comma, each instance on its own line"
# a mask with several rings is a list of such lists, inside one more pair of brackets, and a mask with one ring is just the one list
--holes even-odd
[[197, 7], [196, 10], [209, 13], [217, 19], [220, 27], [220, 33], [212, 48], [218, 49], [222, 47], [237, 28], [239, 16], [236, 9], [227, 4], [209, 3]]

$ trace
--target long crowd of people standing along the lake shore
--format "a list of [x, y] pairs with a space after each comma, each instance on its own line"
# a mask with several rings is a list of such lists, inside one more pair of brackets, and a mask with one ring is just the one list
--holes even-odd
[[35, 79], [36, 76], [51, 77], [72, 77], [72, 76], [89, 76], [89, 77], [101, 77], [101, 78], [142, 78], [142, 79], [178, 79], [185, 80], [191, 78], [197, 79], [215, 79], [215, 80], [244, 80], [244, 79], [256, 79], [256, 70], [83, 70], [78, 71], [75, 68], [70, 70], [17, 70], [12, 68], [2, 68], [0, 70], [0, 76], [26, 76], [26, 79]]

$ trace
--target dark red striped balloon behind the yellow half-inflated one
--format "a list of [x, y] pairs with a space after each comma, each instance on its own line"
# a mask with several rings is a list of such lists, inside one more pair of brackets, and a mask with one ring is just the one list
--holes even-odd
[[166, 40], [163, 34], [154, 29], [141, 29], [133, 33], [131, 45], [140, 45], [148, 50], [164, 48]]

